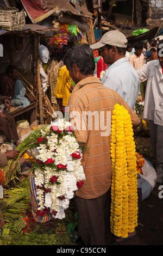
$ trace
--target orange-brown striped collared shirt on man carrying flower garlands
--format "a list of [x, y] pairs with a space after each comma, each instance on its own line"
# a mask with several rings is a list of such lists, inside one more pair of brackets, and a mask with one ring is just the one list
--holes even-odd
[[78, 142], [86, 144], [82, 165], [86, 179], [76, 195], [85, 199], [102, 196], [111, 186], [110, 132], [114, 105], [123, 105], [133, 125], [140, 123], [135, 112], [99, 78], [86, 77], [76, 84], [68, 101], [71, 124]]

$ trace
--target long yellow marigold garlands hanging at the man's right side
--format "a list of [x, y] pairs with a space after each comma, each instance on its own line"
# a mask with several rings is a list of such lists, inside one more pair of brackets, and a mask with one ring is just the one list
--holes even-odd
[[115, 105], [111, 123], [111, 233], [126, 238], [137, 226], [137, 170], [130, 115]]

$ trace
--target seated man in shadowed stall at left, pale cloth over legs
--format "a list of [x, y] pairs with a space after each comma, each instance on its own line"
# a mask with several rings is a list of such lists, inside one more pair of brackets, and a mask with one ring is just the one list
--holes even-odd
[[18, 80], [16, 66], [7, 67], [7, 75], [2, 78], [1, 94], [10, 97], [11, 107], [27, 107], [33, 101], [26, 92], [21, 80]]

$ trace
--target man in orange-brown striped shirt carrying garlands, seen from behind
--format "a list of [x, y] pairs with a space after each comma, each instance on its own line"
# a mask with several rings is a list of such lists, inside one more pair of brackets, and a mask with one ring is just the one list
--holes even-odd
[[82, 159], [86, 179], [75, 196], [78, 233], [85, 245], [108, 245], [112, 175], [110, 132], [115, 104], [128, 110], [135, 128], [140, 120], [120, 95], [93, 76], [95, 62], [89, 45], [72, 47], [64, 63], [76, 83], [68, 101], [70, 121], [79, 147], [86, 146]]

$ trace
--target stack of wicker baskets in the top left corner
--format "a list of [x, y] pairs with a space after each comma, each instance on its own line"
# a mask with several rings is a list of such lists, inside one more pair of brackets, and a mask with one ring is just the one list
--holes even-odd
[[26, 24], [24, 11], [16, 8], [0, 9], [0, 28], [9, 31], [22, 30]]

